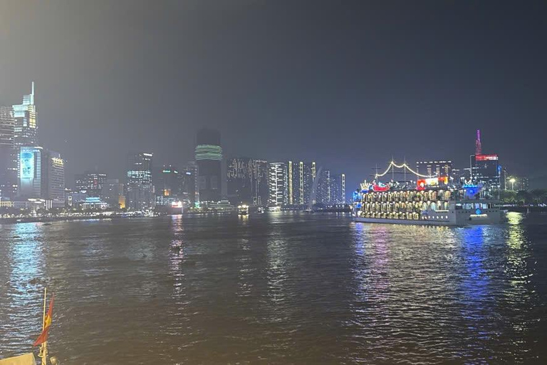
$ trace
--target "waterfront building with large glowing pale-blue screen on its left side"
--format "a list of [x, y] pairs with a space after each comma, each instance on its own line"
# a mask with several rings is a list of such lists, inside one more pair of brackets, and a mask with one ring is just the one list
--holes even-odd
[[41, 147], [22, 146], [19, 152], [19, 195], [65, 205], [65, 166], [61, 155]]

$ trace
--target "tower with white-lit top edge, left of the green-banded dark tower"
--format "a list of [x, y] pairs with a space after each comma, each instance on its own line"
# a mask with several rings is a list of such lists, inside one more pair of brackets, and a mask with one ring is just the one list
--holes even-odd
[[130, 210], [146, 210], [154, 206], [152, 185], [152, 153], [127, 155], [125, 203]]

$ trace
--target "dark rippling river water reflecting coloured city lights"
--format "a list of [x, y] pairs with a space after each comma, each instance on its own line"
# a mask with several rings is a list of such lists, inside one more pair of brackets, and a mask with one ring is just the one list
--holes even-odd
[[0, 358], [43, 287], [63, 364], [546, 361], [547, 217], [420, 227], [338, 215], [0, 225]]

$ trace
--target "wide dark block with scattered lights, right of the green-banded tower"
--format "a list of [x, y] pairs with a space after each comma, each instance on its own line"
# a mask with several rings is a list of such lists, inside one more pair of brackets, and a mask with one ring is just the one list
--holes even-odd
[[226, 178], [231, 204], [268, 204], [268, 163], [266, 161], [231, 158], [227, 163]]

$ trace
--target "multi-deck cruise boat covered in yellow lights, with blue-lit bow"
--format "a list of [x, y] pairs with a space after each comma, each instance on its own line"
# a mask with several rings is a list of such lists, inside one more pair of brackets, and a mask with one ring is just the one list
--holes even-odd
[[353, 193], [356, 222], [398, 225], [484, 225], [501, 222], [499, 200], [481, 185], [449, 185], [447, 177], [413, 183], [377, 181], [361, 184]]

